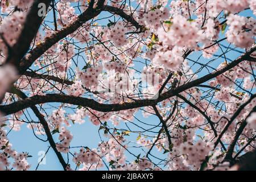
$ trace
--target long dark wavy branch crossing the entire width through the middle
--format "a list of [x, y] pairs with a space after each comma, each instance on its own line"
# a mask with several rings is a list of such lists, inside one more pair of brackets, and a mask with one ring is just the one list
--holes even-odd
[[187, 84], [171, 89], [168, 92], [161, 94], [155, 100], [136, 100], [134, 102], [124, 102], [123, 104], [100, 104], [99, 102], [88, 98], [66, 96], [61, 94], [46, 94], [46, 96], [32, 96], [30, 98], [27, 98], [26, 100], [17, 101], [13, 104], [6, 106], [0, 106], [0, 110], [2, 110], [3, 113], [6, 114], [13, 114], [16, 113], [16, 111], [26, 109], [27, 107], [30, 107], [32, 105], [43, 104], [47, 102], [63, 102], [67, 104], [81, 105], [102, 112], [134, 109], [143, 106], [152, 106], [158, 104], [158, 102], [166, 100], [167, 98], [176, 96], [180, 92], [183, 92], [189, 88], [203, 84], [205, 81], [208, 81], [218, 75], [221, 75], [229, 69], [236, 67], [237, 64], [241, 63], [244, 60], [247, 60], [247, 57], [249, 57], [250, 54], [253, 53], [255, 50], [256, 46], [249, 49], [249, 51], [238, 57], [236, 60], [232, 61], [232, 63], [226, 65], [226, 67], [209, 73], [208, 75], [198, 78], [197, 80], [193, 80], [191, 82], [188, 82]]

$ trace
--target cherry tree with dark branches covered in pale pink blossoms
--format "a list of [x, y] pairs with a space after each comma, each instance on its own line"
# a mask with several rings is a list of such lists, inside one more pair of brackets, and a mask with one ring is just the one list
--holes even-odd
[[1, 170], [23, 125], [64, 170], [256, 169], [255, 0], [0, 3]]

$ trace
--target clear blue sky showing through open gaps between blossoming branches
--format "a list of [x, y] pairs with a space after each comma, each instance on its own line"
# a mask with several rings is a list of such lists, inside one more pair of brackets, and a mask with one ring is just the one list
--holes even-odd
[[[107, 13], [102, 13], [100, 16], [104, 17], [107, 16], [109, 14]], [[241, 15], [243, 16], [251, 16], [251, 11], [250, 10], [246, 10], [245, 12], [241, 13]], [[52, 20], [52, 14], [48, 15], [48, 19]], [[101, 20], [100, 24], [105, 24], [106, 20]], [[224, 36], [224, 35], [221, 35]], [[228, 43], [225, 42], [225, 45], [228, 46]], [[231, 46], [233, 47], [233, 46]], [[219, 50], [216, 55], [220, 55], [221, 51]], [[234, 52], [234, 51], [230, 51], [229, 53], [226, 54], [227, 57], [229, 57], [229, 59], [236, 59], [240, 53]], [[196, 52], [193, 53], [191, 56], [189, 56], [190, 59], [196, 60], [197, 57], [200, 56], [200, 53]], [[207, 59], [204, 59], [203, 57], [201, 57], [201, 59], [199, 60], [200, 63], [207, 63]], [[217, 59], [216, 61], [213, 61], [212, 64], [210, 64], [212, 67], [216, 68], [218, 64], [222, 63], [224, 61], [224, 59]], [[82, 63], [84, 64], [84, 63]], [[82, 65], [81, 65], [82, 66]], [[139, 65], [136, 64], [135, 68], [141, 68], [143, 65]], [[82, 67], [81, 67], [82, 68]], [[195, 65], [192, 67], [193, 71], [196, 71], [198, 68], [200, 68], [200, 65]], [[198, 76], [204, 76], [208, 73], [208, 71], [206, 69], [203, 69], [203, 71], [201, 71]], [[57, 106], [57, 104], [52, 104], [54, 106]], [[34, 114], [32, 114], [32, 111], [30, 109], [28, 109], [28, 111], [30, 112], [32, 118], [37, 121], [37, 119], [35, 118]], [[49, 114], [51, 113], [51, 110], [48, 110]], [[152, 116], [149, 118], [143, 118], [141, 111], [139, 111], [136, 114], [136, 117], [138, 117], [139, 119], [141, 119], [141, 121], [143, 122], [147, 122], [147, 123], [151, 123], [151, 124], [158, 124], [159, 120], [158, 118]], [[71, 131], [71, 133], [73, 133], [73, 140], [71, 143], [71, 146], [88, 146], [89, 148], [94, 148], [97, 147], [98, 142], [100, 142], [100, 137], [98, 135], [98, 128], [99, 126], [94, 126], [88, 118], [85, 118], [85, 123], [83, 123], [82, 125], [79, 124], [75, 124], [73, 125], [71, 123], [71, 127], [68, 127], [68, 130]], [[134, 119], [134, 123], [137, 123], [137, 121]], [[109, 125], [111, 126], [111, 124], [109, 123]], [[131, 124], [131, 123], [127, 123], [127, 125], [129, 125], [131, 127], [131, 129], [135, 129], [135, 127]], [[126, 128], [126, 126], [124, 125], [124, 123], [121, 123], [120, 126], [118, 126], [119, 128]], [[148, 126], [144, 126], [144, 127], [148, 127]], [[158, 130], [155, 130], [158, 131]], [[102, 131], [101, 131], [102, 134]], [[46, 136], [39, 136], [40, 138], [46, 139]], [[58, 134], [54, 134], [53, 138], [55, 139], [55, 141], [58, 141]], [[138, 134], [131, 134], [131, 137], [129, 138], [130, 140], [134, 140], [136, 142], [136, 138], [138, 137]], [[38, 164], [38, 154], [39, 151], [46, 151], [49, 144], [48, 142], [42, 142], [41, 140], [38, 140], [34, 134], [32, 133], [32, 130], [27, 129], [26, 124], [24, 124], [22, 126], [22, 129], [18, 132], [12, 131], [9, 135], [8, 138], [10, 139], [10, 143], [13, 144], [13, 148], [15, 148], [15, 150], [22, 152], [22, 151], [27, 151], [29, 152], [30, 155], [32, 155], [32, 158], [28, 158], [28, 162], [31, 164], [31, 170], [34, 170], [35, 167]], [[79, 150], [77, 148], [77, 150]], [[131, 151], [133, 151], [135, 154], [139, 154], [141, 151], [138, 152], [137, 149], [131, 149]], [[157, 156], [163, 157], [162, 154], [160, 154], [157, 151], [153, 151], [152, 154], [157, 154]], [[143, 155], [143, 154], [142, 154]], [[67, 161], [67, 155], [63, 154], [64, 159]], [[135, 160], [133, 156], [127, 154], [128, 159], [129, 160]], [[72, 156], [70, 155], [69, 160], [72, 160]], [[71, 162], [71, 164], [73, 164], [73, 162]], [[72, 165], [72, 167], [75, 167], [75, 164]], [[47, 156], [46, 156], [46, 164], [45, 165], [40, 165], [39, 166], [39, 170], [62, 170], [63, 168], [61, 167], [58, 159], [56, 158], [55, 153], [53, 152], [52, 149], [49, 150]]]

